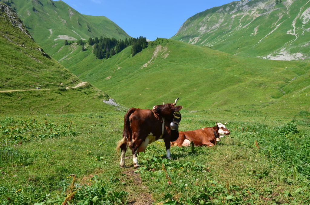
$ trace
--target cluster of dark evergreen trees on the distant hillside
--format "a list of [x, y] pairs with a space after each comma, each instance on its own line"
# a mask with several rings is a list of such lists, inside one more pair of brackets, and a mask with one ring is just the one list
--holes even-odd
[[94, 55], [98, 59], [108, 59], [111, 56], [121, 52], [127, 46], [131, 45], [131, 55], [134, 56], [148, 45], [146, 38], [142, 36], [139, 38], [126, 38], [125, 41], [108, 37], [95, 37], [95, 39], [90, 37], [88, 39], [88, 43], [91, 46], [94, 45]]

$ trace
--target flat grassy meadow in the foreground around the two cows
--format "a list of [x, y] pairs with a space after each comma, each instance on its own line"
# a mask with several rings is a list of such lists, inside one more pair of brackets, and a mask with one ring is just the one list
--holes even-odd
[[180, 130], [228, 121], [231, 134], [214, 147], [172, 147], [172, 160], [154, 142], [138, 169], [130, 150], [119, 168], [123, 112], [1, 115], [1, 204], [309, 203], [308, 111], [181, 113]]

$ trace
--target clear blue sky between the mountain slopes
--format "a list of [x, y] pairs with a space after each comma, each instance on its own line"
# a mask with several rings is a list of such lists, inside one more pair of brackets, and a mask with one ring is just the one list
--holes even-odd
[[62, 0], [81, 14], [108, 17], [131, 37], [170, 38], [191, 16], [232, 0]]

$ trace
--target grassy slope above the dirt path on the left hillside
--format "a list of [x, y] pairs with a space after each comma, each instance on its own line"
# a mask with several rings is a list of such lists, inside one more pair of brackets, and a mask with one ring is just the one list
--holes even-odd
[[[60, 88], [81, 82], [76, 76], [44, 56], [44, 51], [6, 17], [0, 17], [0, 90]], [[60, 85], [62, 83], [62, 86]]]

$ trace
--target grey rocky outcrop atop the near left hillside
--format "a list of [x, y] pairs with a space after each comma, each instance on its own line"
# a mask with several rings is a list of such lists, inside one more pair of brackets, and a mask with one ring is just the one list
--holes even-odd
[[14, 27], [19, 28], [23, 33], [25, 33], [29, 38], [32, 39], [30, 33], [24, 26], [22, 20], [17, 16], [16, 12], [9, 7], [7, 4], [0, 2], [0, 16], [9, 21]]

